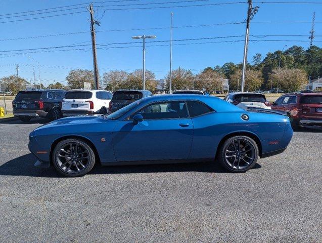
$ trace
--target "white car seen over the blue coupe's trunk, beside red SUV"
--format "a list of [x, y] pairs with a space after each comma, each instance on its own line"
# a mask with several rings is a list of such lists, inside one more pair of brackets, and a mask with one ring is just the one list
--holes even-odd
[[250, 108], [271, 109], [271, 104], [266, 100], [265, 95], [259, 93], [229, 93], [223, 99], [245, 110]]

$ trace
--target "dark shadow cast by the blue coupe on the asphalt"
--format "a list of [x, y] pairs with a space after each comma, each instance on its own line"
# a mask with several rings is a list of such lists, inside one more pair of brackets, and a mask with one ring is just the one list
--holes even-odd
[[[34, 167], [36, 157], [29, 153], [9, 160], [0, 166], [2, 176], [30, 176], [30, 177], [63, 177], [51, 168]], [[261, 166], [256, 164], [253, 169]], [[204, 173], [229, 173], [218, 163], [182, 163], [182, 164], [162, 164], [162, 165], [133, 165], [133, 166], [108, 166], [96, 165], [91, 175], [98, 174], [132, 174], [132, 173], [171, 173], [171, 172], [204, 172]]]

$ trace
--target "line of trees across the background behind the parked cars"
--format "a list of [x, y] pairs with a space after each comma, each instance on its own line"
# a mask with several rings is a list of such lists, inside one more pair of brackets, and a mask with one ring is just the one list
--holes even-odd
[[[311, 46], [307, 50], [303, 47], [293, 46], [286, 51], [269, 52], [264, 58], [261, 54], [253, 57], [252, 63], [247, 63], [245, 91], [270, 90], [277, 88], [285, 92], [298, 91], [311, 79], [322, 73], [322, 49]], [[194, 74], [191, 70], [178, 67], [172, 71], [172, 90], [197, 89], [213, 93], [222, 90], [223, 79], [229, 79], [230, 90], [240, 90], [242, 76], [242, 63], [227, 62], [222, 66], [207, 67]], [[146, 89], [156, 92], [158, 82], [155, 73], [146, 70]], [[165, 91], [169, 90], [170, 74], [164, 77]], [[94, 74], [91, 70], [74, 69], [66, 77], [67, 85], [56, 82], [47, 89], [81, 89], [84, 82], [90, 83], [94, 88]], [[0, 79], [2, 90], [16, 94], [19, 90], [30, 86], [22, 77], [11, 75]], [[102, 89], [116, 91], [119, 89], [143, 89], [142, 69], [132, 72], [125, 70], [111, 70], [100, 76]], [[37, 87], [39, 88], [39, 87]]]

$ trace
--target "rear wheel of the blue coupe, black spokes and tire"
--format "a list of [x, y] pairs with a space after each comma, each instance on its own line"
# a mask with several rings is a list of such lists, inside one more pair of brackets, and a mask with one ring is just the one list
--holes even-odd
[[247, 136], [235, 136], [228, 138], [220, 146], [218, 158], [226, 170], [246, 172], [256, 165], [258, 154], [258, 146], [253, 139]]

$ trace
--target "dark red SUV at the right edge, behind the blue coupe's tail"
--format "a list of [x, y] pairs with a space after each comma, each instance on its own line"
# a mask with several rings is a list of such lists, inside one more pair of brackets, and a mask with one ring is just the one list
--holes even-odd
[[304, 125], [322, 126], [322, 93], [285, 94], [271, 108], [286, 111], [293, 129]]

